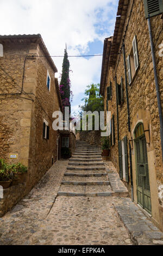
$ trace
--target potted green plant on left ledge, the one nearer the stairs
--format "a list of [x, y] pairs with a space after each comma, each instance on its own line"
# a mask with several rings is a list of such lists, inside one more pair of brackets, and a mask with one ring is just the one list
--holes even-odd
[[17, 183], [24, 183], [26, 181], [27, 167], [21, 163], [11, 164], [12, 172], [14, 173]]

